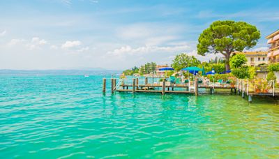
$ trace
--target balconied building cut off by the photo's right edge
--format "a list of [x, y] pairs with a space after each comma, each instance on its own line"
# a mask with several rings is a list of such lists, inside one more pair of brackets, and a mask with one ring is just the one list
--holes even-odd
[[269, 36], [266, 36], [267, 43], [270, 45], [269, 54], [269, 63], [279, 62], [279, 30], [271, 33]]

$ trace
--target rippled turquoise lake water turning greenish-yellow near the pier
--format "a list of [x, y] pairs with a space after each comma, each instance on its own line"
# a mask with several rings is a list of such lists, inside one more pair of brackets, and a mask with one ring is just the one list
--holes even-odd
[[276, 99], [104, 96], [102, 79], [0, 76], [0, 158], [279, 158]]

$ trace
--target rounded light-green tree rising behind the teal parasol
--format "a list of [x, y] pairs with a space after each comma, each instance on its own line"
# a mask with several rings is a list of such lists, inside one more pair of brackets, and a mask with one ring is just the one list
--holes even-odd
[[174, 60], [172, 60], [172, 68], [178, 71], [189, 66], [198, 66], [199, 63], [201, 62], [195, 56], [188, 56], [185, 53], [181, 53], [176, 55]]

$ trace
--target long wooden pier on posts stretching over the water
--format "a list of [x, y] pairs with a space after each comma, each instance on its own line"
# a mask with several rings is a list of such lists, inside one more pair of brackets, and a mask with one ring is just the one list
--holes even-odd
[[[243, 98], [248, 96], [248, 101], [252, 102], [252, 96], [279, 96], [279, 91], [276, 92], [273, 82], [273, 90], [268, 93], [258, 93], [255, 91], [250, 91], [249, 80], [236, 79], [236, 84], [199, 84], [198, 79], [195, 78], [194, 81], [189, 81], [185, 84], [171, 84], [166, 82], [166, 79], [163, 79], [163, 82], [149, 84], [148, 78], [145, 77], [143, 84], [140, 84], [138, 78], [131, 79], [131, 83], [125, 83], [124, 80], [119, 79], [119, 82], [116, 84], [116, 79], [111, 79], [111, 91], [114, 93], [117, 92], [131, 92], [131, 93], [161, 93], [162, 95], [166, 93], [184, 93], [184, 94], [193, 94], [195, 96], [199, 95], [199, 89], [210, 90], [209, 93], [215, 93], [215, 89], [225, 89], [230, 90], [231, 93], [237, 93]], [[106, 89], [106, 79], [103, 78], [103, 93]], [[179, 90], [177, 90], [179, 89]]]

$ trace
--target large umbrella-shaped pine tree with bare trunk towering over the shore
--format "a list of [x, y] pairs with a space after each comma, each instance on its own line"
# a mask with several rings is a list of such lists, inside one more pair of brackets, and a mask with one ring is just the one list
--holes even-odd
[[200, 34], [197, 54], [223, 54], [226, 70], [229, 70], [232, 52], [250, 49], [259, 38], [257, 27], [246, 22], [216, 21]]

